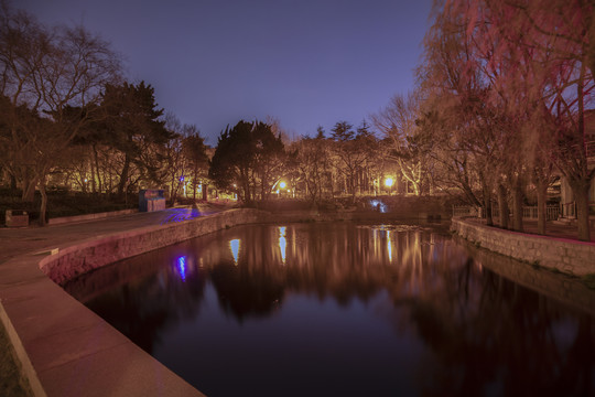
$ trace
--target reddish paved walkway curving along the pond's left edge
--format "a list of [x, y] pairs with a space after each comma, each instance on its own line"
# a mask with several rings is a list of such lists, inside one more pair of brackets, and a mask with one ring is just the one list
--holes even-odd
[[47, 227], [0, 228], [0, 319], [36, 396], [203, 396], [50, 280], [51, 250], [224, 210], [172, 208]]

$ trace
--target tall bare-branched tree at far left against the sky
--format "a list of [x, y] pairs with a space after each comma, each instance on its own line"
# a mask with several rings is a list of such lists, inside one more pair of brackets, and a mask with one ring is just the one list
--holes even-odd
[[[83, 26], [48, 29], [22, 11], [0, 7], [0, 94], [8, 125], [1, 135], [4, 164], [32, 201], [46, 176], [93, 116], [102, 87], [118, 77], [120, 62], [100, 37]], [[26, 108], [29, 114], [19, 110]]]

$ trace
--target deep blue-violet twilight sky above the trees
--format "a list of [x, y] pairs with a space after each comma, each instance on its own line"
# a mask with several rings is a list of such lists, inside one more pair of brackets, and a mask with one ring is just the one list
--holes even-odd
[[123, 55], [130, 82], [207, 143], [240, 119], [290, 137], [358, 126], [414, 84], [431, 0], [18, 0], [46, 24], [82, 23]]

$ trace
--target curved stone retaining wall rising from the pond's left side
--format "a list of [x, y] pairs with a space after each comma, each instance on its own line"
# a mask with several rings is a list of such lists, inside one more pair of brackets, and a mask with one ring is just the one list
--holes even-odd
[[93, 269], [226, 227], [267, 219], [258, 210], [231, 210], [182, 223], [122, 232], [76, 244], [42, 259], [40, 269], [63, 283]]

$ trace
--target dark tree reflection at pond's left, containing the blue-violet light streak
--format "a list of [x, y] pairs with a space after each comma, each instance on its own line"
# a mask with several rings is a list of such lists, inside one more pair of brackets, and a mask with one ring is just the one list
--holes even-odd
[[[185, 280], [182, 281], [178, 257], [172, 260], [165, 250], [151, 253], [150, 256], [139, 256], [99, 269], [78, 280], [99, 285], [102, 291], [106, 290], [105, 280], [111, 280], [117, 275], [127, 280], [126, 283], [116, 283], [116, 288], [97, 298], [87, 299], [85, 304], [149, 353], [161, 342], [161, 334], [166, 329], [177, 324], [181, 319], [196, 315], [206, 281], [206, 275], [193, 257], [185, 257]], [[159, 271], [147, 276], [143, 269], [154, 264], [160, 265]], [[127, 271], [122, 272], [122, 268]]]

